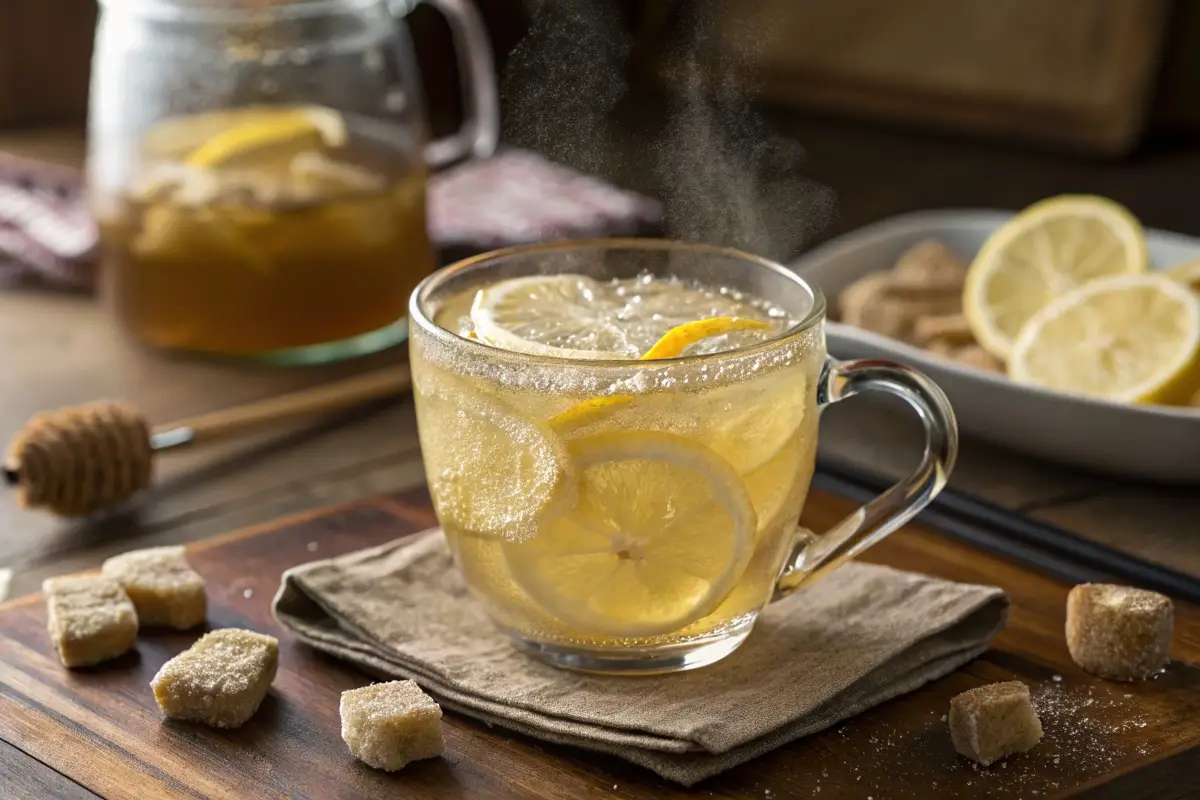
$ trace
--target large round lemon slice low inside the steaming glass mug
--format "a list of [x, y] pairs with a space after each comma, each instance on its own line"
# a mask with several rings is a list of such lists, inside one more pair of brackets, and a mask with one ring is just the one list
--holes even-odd
[[517, 584], [554, 616], [622, 638], [670, 633], [716, 608], [757, 527], [728, 463], [659, 432], [599, 434], [570, 451], [578, 503], [505, 546]]

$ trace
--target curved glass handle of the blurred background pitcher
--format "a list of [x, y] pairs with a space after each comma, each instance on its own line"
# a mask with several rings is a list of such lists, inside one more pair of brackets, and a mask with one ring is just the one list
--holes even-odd
[[437, 168], [468, 154], [487, 158], [496, 152], [500, 139], [500, 100], [487, 28], [470, 0], [425, 1], [442, 12], [450, 25], [466, 110], [461, 128], [426, 146], [425, 162]]

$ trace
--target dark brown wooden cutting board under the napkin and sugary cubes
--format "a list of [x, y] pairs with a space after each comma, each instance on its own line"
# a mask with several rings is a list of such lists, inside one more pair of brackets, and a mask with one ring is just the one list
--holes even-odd
[[[852, 504], [814, 492], [822, 530]], [[191, 548], [209, 585], [209, 625], [278, 636], [281, 661], [257, 716], [233, 732], [162, 722], [149, 681], [196, 633], [144, 633], [136, 652], [68, 672], [46, 636], [41, 597], [0, 606], [0, 739], [102, 798], [1194, 798], [1200, 796], [1200, 609], [1177, 604], [1175, 657], [1142, 684], [1096, 680], [1063, 644], [1069, 587], [943, 534], [910, 525], [866, 560], [992, 583], [1012, 600], [994, 648], [908, 696], [690, 790], [616, 758], [544, 744], [448, 714], [446, 752], [388, 775], [356, 763], [337, 700], [370, 678], [295, 643], [271, 618], [280, 573], [434, 523], [424, 492], [281, 519]], [[1020, 679], [1039, 698], [1045, 739], [992, 769], [958, 758], [950, 697]], [[80, 792], [83, 789], [80, 788]]]

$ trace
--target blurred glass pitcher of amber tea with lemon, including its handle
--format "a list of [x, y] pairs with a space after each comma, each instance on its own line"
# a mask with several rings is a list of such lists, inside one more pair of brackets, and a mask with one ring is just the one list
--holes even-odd
[[103, 0], [88, 178], [103, 288], [166, 350], [284, 363], [407, 333], [432, 272], [426, 174], [490, 156], [499, 110], [470, 0], [446, 17], [466, 122], [430, 140], [415, 0]]

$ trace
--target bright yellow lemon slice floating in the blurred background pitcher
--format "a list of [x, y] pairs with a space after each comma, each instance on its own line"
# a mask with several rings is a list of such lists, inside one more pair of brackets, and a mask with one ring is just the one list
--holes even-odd
[[342, 115], [317, 106], [246, 109], [236, 122], [192, 150], [185, 162], [192, 167], [214, 167], [259, 148], [308, 138], [314, 139], [314, 145], [326, 148], [346, 144]]

